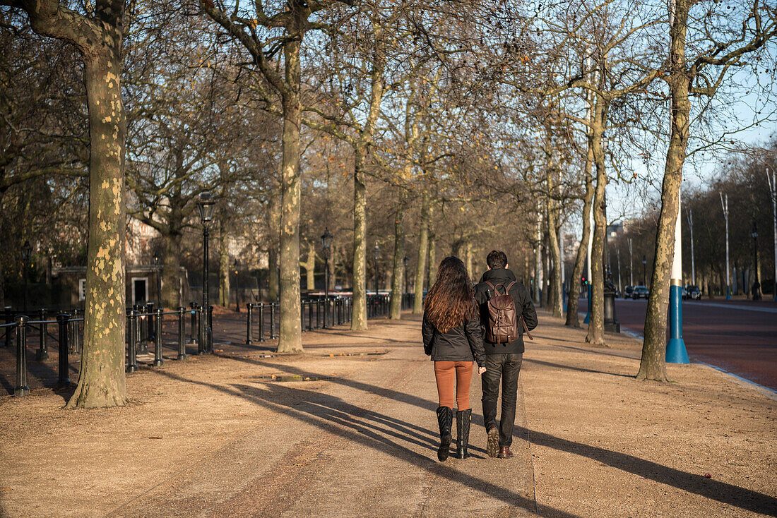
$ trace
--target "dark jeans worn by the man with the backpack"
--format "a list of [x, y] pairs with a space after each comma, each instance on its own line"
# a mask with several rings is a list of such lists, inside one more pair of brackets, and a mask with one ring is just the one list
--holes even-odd
[[513, 443], [515, 404], [518, 398], [518, 374], [524, 355], [486, 354], [486, 372], [483, 374], [483, 419], [486, 430], [497, 427], [497, 399], [502, 382], [502, 415], [499, 422], [499, 445], [509, 447]]

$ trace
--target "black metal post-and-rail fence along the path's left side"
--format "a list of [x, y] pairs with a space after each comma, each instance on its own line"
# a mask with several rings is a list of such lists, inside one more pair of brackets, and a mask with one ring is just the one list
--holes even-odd
[[[412, 305], [413, 295], [403, 294], [402, 305]], [[303, 332], [314, 329], [327, 329], [336, 325], [347, 324], [351, 320], [352, 299], [336, 297], [329, 299], [301, 301], [300, 321]], [[246, 344], [264, 342], [276, 339], [280, 327], [280, 304], [259, 303], [246, 304]], [[369, 295], [367, 300], [368, 318], [388, 315], [389, 296], [385, 294]], [[6, 309], [5, 323], [0, 324], [0, 333], [5, 339], [5, 346], [11, 346], [12, 335], [16, 345], [16, 386], [14, 395], [24, 396], [30, 392], [27, 384], [27, 335], [30, 330], [38, 333], [38, 349], [36, 360], [49, 358], [48, 342], [57, 343], [58, 354], [58, 384], [70, 383], [69, 355], [81, 353], [83, 311], [72, 310], [60, 312], [56, 317], [47, 319], [47, 310], [38, 311], [37, 320], [30, 320], [27, 315], [13, 313]], [[204, 311], [203, 306], [191, 303], [189, 308], [179, 307], [176, 311], [163, 311], [154, 304], [135, 304], [127, 309], [127, 349], [125, 367], [128, 373], [138, 370], [138, 354], [149, 354], [152, 347], [154, 367], [164, 363], [162, 355], [164, 333], [163, 322], [174, 318], [177, 322], [176, 352], [177, 360], [186, 358], [186, 322], [190, 322], [189, 341], [197, 345], [197, 354], [213, 352], [213, 306]], [[169, 320], [168, 320], [169, 322]], [[51, 329], [57, 329], [54, 335]], [[168, 344], [169, 345], [169, 344]]]

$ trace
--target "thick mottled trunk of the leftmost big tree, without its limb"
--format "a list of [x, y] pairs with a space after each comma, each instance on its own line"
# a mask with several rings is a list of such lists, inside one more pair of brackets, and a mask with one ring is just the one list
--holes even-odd
[[[120, 23], [119, 23], [120, 26]], [[78, 386], [68, 408], [127, 403], [124, 375], [124, 151], [121, 28], [103, 33], [103, 53], [85, 56], [89, 106], [89, 245], [84, 343]]]

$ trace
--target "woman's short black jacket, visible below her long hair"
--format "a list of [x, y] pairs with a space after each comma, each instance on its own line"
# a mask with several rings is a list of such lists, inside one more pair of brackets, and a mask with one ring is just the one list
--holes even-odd
[[423, 336], [423, 352], [431, 356], [433, 361], [472, 361], [480, 367], [486, 363], [486, 353], [483, 350], [483, 329], [480, 329], [480, 319], [472, 315], [464, 325], [441, 333], [424, 317], [421, 325]]

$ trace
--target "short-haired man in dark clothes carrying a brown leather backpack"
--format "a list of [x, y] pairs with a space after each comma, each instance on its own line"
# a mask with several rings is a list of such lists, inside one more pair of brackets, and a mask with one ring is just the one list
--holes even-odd
[[[483, 419], [488, 433], [489, 457], [513, 457], [518, 374], [524, 356], [523, 334], [537, 327], [531, 296], [507, 269], [507, 254], [493, 250], [486, 257], [488, 271], [475, 287], [480, 322], [485, 330], [486, 373], [483, 374]], [[502, 415], [497, 426], [497, 399], [502, 385]]]

